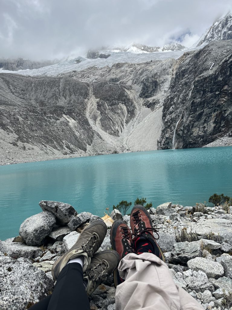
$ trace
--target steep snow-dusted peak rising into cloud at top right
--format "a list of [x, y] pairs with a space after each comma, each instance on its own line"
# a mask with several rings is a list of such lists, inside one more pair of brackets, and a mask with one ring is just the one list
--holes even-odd
[[192, 47], [198, 47], [211, 41], [230, 39], [232, 39], [232, 12], [216, 20]]

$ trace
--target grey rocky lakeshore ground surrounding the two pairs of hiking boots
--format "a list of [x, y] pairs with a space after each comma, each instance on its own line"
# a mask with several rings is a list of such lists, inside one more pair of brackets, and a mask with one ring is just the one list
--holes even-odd
[[[62, 202], [41, 201], [42, 212], [26, 219], [19, 236], [0, 241], [0, 308], [24, 310], [51, 294], [51, 268], [69, 250], [88, 223], [103, 220], [109, 228], [99, 250], [111, 248], [110, 227], [130, 216], [113, 210], [100, 218], [77, 214]], [[180, 206], [171, 202], [149, 210], [159, 230], [158, 244], [175, 283], [204, 309], [232, 309], [232, 207]], [[90, 297], [92, 310], [115, 309], [112, 275]]]

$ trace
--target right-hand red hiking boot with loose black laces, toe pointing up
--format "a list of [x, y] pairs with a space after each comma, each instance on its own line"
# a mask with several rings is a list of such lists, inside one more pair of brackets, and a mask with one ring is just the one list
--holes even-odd
[[[165, 262], [165, 257], [156, 242], [156, 240], [159, 239], [158, 232], [153, 228], [152, 219], [144, 206], [136, 205], [132, 208], [130, 222], [133, 235], [133, 250], [137, 254], [141, 254], [137, 252], [137, 244], [145, 246], [145, 248], [149, 248], [150, 245], [150, 249], [147, 252], [153, 253]], [[153, 232], [157, 234], [157, 238], [154, 237]], [[143, 244], [141, 245], [141, 243]]]

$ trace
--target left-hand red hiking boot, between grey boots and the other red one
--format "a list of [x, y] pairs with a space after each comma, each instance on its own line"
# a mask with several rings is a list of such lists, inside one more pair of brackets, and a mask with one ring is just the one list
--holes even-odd
[[[120, 260], [132, 252], [131, 231], [127, 224], [122, 220], [113, 223], [110, 229], [110, 243], [112, 249], [118, 252]], [[118, 269], [114, 270], [114, 286], [122, 283], [124, 280], [119, 277]]]

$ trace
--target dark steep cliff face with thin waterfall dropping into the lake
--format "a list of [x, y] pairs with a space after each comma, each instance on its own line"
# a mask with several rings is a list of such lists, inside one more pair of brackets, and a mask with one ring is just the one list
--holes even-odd
[[177, 60], [158, 148], [201, 147], [232, 135], [231, 56], [231, 41], [223, 41]]

